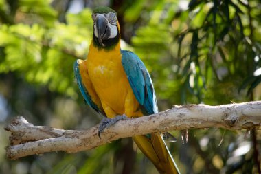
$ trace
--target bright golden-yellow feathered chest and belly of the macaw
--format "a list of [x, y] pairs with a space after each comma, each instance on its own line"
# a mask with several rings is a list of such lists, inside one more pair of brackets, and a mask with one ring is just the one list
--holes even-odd
[[115, 113], [123, 114], [126, 95], [131, 90], [131, 86], [122, 67], [120, 49], [109, 52], [90, 50], [87, 69], [100, 100], [111, 107]]

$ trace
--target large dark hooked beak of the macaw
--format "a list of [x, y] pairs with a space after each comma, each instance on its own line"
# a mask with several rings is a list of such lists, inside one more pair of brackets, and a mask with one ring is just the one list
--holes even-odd
[[108, 21], [103, 16], [97, 16], [95, 18], [95, 25], [98, 32], [98, 41], [100, 45], [104, 44], [102, 43], [103, 40], [109, 39], [111, 35], [111, 30], [108, 27]]

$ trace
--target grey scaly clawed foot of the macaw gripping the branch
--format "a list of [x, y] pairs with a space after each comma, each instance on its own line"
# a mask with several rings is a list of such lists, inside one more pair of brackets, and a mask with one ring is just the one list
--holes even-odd
[[128, 120], [128, 119], [129, 118], [125, 114], [116, 116], [115, 118], [103, 118], [102, 121], [100, 122], [100, 127], [98, 130], [99, 138], [100, 138], [100, 133], [104, 132], [105, 128], [111, 127], [111, 125], [115, 124], [117, 121]]

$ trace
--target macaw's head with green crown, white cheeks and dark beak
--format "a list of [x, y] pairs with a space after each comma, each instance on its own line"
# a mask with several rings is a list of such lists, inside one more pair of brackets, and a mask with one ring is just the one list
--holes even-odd
[[93, 10], [93, 43], [98, 47], [112, 47], [120, 41], [120, 25], [117, 13], [109, 7]]

